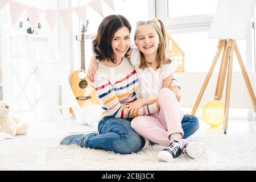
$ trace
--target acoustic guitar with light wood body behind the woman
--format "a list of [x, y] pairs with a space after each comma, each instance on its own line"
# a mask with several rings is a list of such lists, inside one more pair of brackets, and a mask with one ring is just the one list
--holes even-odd
[[[71, 74], [71, 86], [73, 93], [75, 94], [76, 100], [81, 108], [90, 105], [101, 105], [96, 91], [90, 82], [86, 78], [85, 74], [85, 41], [84, 34], [87, 30], [89, 21], [87, 20], [86, 26], [82, 25], [82, 34], [81, 34], [81, 68]], [[73, 113], [72, 108], [69, 109], [70, 113]]]

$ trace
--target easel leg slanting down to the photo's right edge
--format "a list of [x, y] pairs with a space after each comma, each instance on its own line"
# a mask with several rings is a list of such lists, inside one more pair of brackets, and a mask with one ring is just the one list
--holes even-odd
[[256, 98], [255, 98], [255, 95], [254, 95], [254, 92], [253, 92], [253, 87], [251, 86], [249, 76], [247, 75], [247, 72], [246, 72], [246, 69], [245, 69], [245, 65], [243, 65], [243, 60], [242, 60], [242, 57], [240, 55], [239, 49], [237, 47], [236, 41], [234, 41], [234, 49], [236, 51], [237, 60], [238, 60], [238, 63], [240, 65], [241, 71], [243, 73], [243, 78], [245, 79], [245, 83], [246, 83], [247, 89], [249, 91], [251, 101], [253, 101], [254, 111], [256, 113]]

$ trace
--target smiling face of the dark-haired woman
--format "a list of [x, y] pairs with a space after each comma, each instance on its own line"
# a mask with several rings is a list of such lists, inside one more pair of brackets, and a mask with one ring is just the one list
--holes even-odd
[[131, 46], [130, 31], [127, 27], [119, 28], [115, 32], [111, 46], [117, 61], [121, 61]]

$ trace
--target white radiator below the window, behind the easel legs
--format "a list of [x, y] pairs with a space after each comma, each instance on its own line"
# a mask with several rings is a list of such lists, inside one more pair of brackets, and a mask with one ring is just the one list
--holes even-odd
[[[254, 94], [256, 95], [256, 72], [247, 72], [250, 78], [251, 86], [253, 86]], [[193, 107], [196, 99], [199, 96], [200, 90], [203, 86], [207, 73], [175, 73], [181, 85], [181, 106]], [[200, 102], [200, 107], [207, 102], [214, 100], [214, 93], [216, 90], [218, 72], [212, 74], [210, 77], [207, 89]], [[222, 102], [225, 102], [226, 96], [226, 81], [224, 85], [224, 92], [222, 95]], [[230, 96], [230, 107], [234, 108], [253, 108], [253, 102], [250, 99], [247, 86], [243, 79], [241, 72], [232, 73], [232, 88]]]

